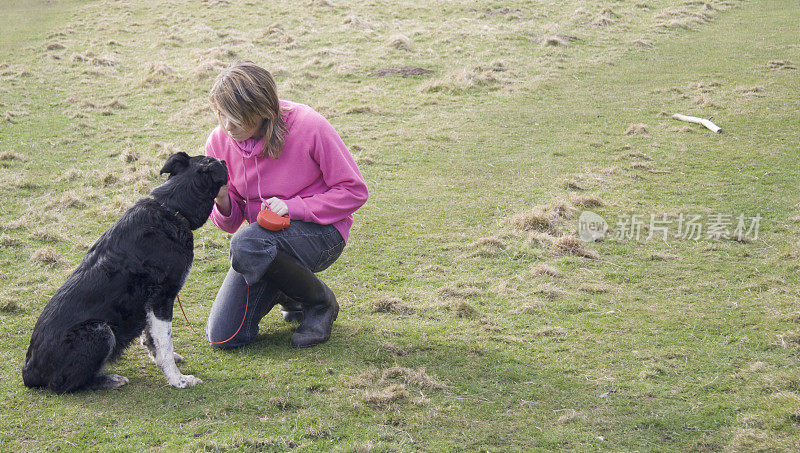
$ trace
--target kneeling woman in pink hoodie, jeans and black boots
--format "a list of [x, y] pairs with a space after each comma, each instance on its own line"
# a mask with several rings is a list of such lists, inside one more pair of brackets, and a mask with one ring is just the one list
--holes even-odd
[[[228, 165], [211, 221], [236, 234], [206, 335], [217, 347], [248, 344], [280, 303], [284, 319], [301, 320], [292, 347], [323, 343], [339, 305], [314, 272], [342, 253], [353, 212], [367, 201], [364, 177], [330, 123], [307, 105], [279, 100], [272, 75], [256, 64], [225, 69], [209, 97], [219, 126], [206, 155]], [[255, 221], [262, 208], [288, 215], [290, 226], [262, 228]], [[239, 228], [244, 220], [249, 225]]]

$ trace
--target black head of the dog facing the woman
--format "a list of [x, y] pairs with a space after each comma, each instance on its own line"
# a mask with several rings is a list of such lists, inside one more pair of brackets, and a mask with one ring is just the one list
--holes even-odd
[[180, 212], [192, 229], [200, 228], [211, 215], [220, 187], [228, 183], [225, 161], [179, 152], [167, 158], [161, 169], [161, 174], [164, 173], [168, 173], [169, 178], [150, 195]]

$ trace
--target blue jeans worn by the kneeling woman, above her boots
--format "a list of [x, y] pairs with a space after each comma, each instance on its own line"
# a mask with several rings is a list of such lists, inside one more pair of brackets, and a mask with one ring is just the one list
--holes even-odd
[[[217, 292], [206, 324], [208, 340], [217, 348], [236, 348], [255, 340], [258, 323], [281, 300], [286, 300], [278, 287], [264, 277], [277, 250], [294, 256], [312, 272], [328, 268], [341, 255], [344, 240], [336, 227], [292, 220], [283, 231], [269, 231], [258, 223], [242, 227], [231, 239], [231, 268]], [[245, 301], [247, 314], [245, 316]], [[244, 318], [244, 323], [242, 323]]]

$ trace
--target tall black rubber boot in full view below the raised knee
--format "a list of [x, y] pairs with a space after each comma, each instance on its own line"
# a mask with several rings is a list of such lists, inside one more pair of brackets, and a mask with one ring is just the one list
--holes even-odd
[[265, 275], [302, 307], [303, 321], [292, 335], [293, 348], [307, 348], [328, 341], [339, 314], [336, 296], [309, 269], [278, 250]]

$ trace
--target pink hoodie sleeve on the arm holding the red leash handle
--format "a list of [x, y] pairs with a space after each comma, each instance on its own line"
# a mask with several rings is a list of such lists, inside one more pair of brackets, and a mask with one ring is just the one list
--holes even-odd
[[353, 156], [331, 124], [314, 112], [311, 157], [319, 164], [326, 192], [286, 200], [289, 217], [304, 222], [329, 225], [353, 214], [367, 202], [369, 193]]

